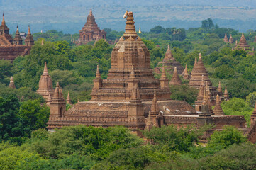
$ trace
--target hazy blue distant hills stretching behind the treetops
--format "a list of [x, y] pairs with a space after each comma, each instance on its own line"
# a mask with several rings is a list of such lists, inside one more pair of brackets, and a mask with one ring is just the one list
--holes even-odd
[[[84, 25], [89, 9], [93, 9], [100, 28], [123, 30], [123, 13], [134, 12], [135, 26], [148, 31], [154, 26], [194, 28], [201, 21], [213, 18], [219, 26], [246, 31], [256, 30], [256, 1], [252, 0], [2, 0], [0, 8], [6, 14], [6, 23], [15, 32], [16, 25], [27, 31], [30, 23], [33, 33], [40, 30], [63, 30], [78, 33]], [[253, 7], [253, 8], [252, 8]]]

